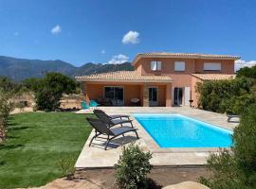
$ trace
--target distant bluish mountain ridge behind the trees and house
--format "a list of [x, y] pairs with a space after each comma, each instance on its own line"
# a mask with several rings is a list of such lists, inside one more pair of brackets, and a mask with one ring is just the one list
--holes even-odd
[[44, 77], [47, 72], [59, 72], [69, 77], [75, 77], [133, 69], [130, 62], [121, 64], [85, 63], [81, 67], [76, 67], [63, 60], [26, 60], [0, 56], [0, 76], [10, 77], [17, 81], [27, 77]]

